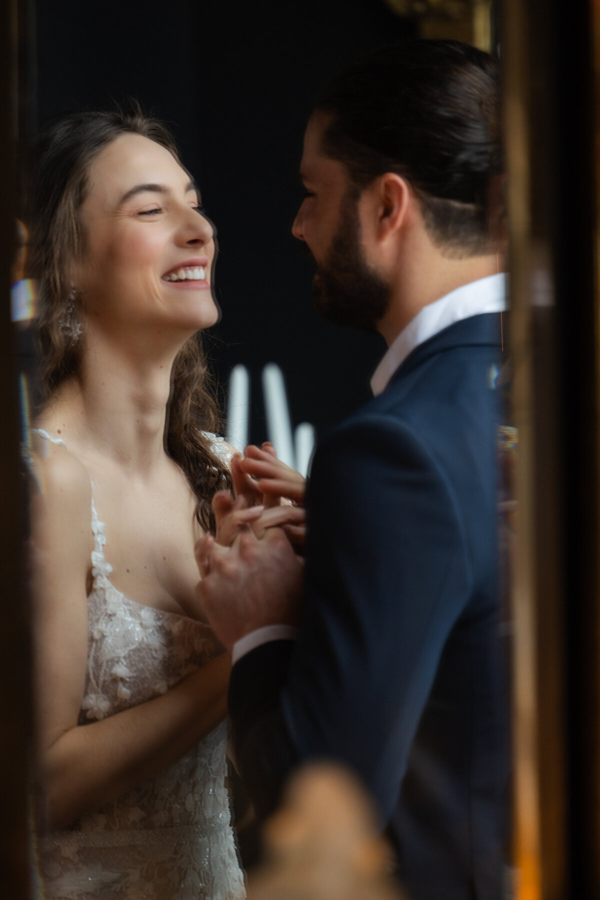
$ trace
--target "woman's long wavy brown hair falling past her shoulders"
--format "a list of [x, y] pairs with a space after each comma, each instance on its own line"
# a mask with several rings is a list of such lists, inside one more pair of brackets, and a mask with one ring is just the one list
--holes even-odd
[[[69, 284], [70, 263], [85, 247], [80, 209], [88, 190], [94, 157], [121, 134], [139, 134], [165, 147], [180, 162], [175, 140], [162, 122], [144, 115], [137, 104], [114, 112], [76, 112], [45, 130], [35, 148], [29, 202], [28, 275], [38, 283], [37, 335], [40, 348], [40, 397], [49, 400], [58, 386], [77, 374], [85, 335], [76, 327], [78, 298]], [[180, 163], [181, 165], [181, 163]], [[219, 427], [213, 383], [201, 346], [201, 334], [189, 338], [175, 356], [166, 410], [165, 449], [184, 471], [198, 500], [196, 518], [214, 534], [210, 500], [231, 488], [226, 466], [210, 448], [203, 431]]]

